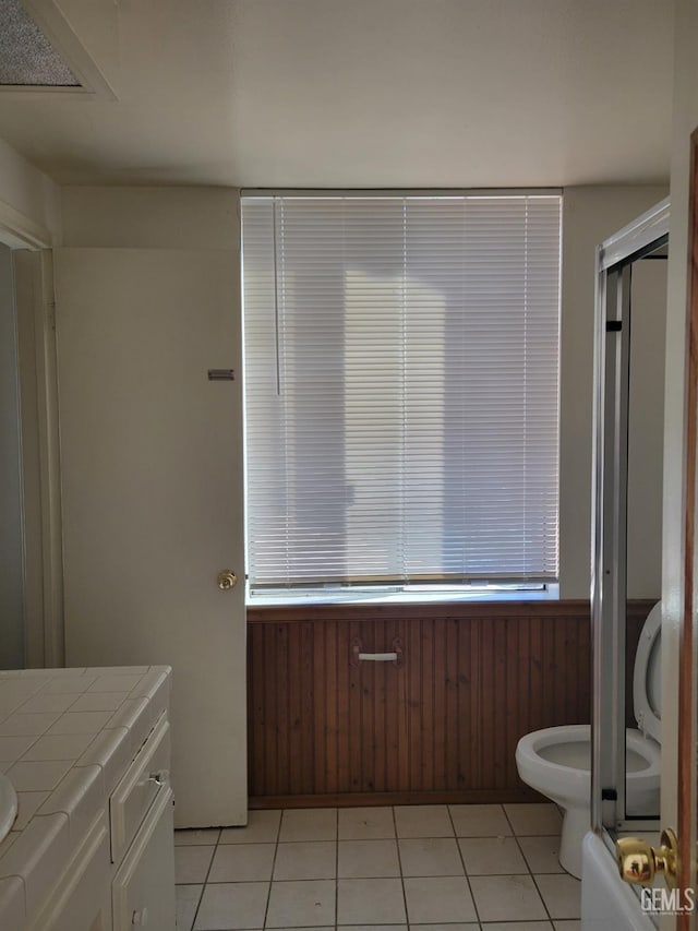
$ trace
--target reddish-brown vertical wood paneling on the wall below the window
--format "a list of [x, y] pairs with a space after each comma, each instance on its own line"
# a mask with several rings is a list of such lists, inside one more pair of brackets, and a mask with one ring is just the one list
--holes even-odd
[[590, 665], [585, 601], [251, 609], [250, 802], [530, 799], [516, 743], [589, 721]]

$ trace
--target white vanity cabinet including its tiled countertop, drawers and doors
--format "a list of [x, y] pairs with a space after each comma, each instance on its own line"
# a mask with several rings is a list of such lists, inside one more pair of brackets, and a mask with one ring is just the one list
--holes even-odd
[[[2, 931], [173, 931], [169, 691], [167, 667], [0, 672], [20, 802], [0, 842]], [[2, 744], [39, 715], [46, 733]]]

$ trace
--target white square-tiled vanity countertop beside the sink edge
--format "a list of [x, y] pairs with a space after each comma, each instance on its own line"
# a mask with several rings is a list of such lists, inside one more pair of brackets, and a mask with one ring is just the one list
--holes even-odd
[[17, 816], [0, 842], [0, 924], [44, 900], [167, 709], [167, 666], [0, 671], [0, 772]]

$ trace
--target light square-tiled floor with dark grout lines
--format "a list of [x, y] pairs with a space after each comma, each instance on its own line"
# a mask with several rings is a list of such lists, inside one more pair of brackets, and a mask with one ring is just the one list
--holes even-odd
[[177, 831], [178, 931], [578, 931], [552, 804], [252, 811]]

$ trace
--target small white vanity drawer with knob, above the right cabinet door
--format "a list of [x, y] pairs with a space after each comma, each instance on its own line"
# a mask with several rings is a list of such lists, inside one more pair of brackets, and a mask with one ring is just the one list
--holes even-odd
[[111, 860], [119, 863], [158, 792], [169, 787], [170, 728], [161, 717], [111, 793]]

